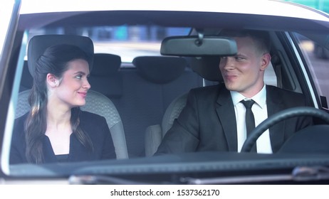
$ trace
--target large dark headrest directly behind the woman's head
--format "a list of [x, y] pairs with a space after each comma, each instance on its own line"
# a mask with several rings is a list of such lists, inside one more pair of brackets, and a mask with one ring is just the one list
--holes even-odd
[[46, 48], [57, 44], [76, 45], [88, 55], [89, 70], [93, 68], [94, 45], [93, 41], [85, 36], [67, 36], [67, 35], [42, 35], [33, 36], [28, 42], [28, 70], [34, 76], [36, 60], [43, 54]]

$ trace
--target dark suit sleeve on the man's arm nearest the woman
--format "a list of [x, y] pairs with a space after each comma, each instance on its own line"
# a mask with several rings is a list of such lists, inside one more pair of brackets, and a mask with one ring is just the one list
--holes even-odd
[[187, 104], [172, 128], [167, 131], [155, 155], [196, 151], [199, 144], [199, 116], [197, 98], [189, 92]]

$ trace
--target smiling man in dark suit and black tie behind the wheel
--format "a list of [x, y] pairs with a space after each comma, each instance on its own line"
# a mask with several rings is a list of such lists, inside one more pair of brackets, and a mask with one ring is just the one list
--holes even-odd
[[[156, 154], [192, 151], [241, 151], [246, 139], [246, 107], [253, 100], [254, 125], [283, 109], [305, 106], [303, 95], [265, 85], [264, 71], [271, 62], [270, 39], [261, 31], [223, 31], [236, 40], [238, 53], [222, 57], [219, 70], [224, 84], [190, 90], [187, 104], [174, 121]], [[266, 130], [257, 140], [258, 153], [271, 154], [310, 117], [287, 119]]]

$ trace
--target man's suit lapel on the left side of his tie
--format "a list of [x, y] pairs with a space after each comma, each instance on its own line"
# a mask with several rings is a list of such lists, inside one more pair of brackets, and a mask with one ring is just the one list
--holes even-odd
[[237, 130], [234, 105], [229, 90], [220, 87], [219, 96], [216, 101], [216, 112], [223, 127], [229, 151], [237, 151]]

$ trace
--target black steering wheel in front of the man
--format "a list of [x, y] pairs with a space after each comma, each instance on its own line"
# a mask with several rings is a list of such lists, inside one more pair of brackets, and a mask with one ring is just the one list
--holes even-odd
[[256, 143], [257, 139], [261, 134], [263, 134], [266, 129], [272, 127], [274, 124], [281, 122], [285, 119], [298, 116], [311, 116], [323, 119], [323, 121], [329, 124], [329, 114], [323, 110], [315, 109], [314, 107], [293, 107], [290, 109], [285, 109], [281, 112], [273, 114], [271, 117], [265, 119], [261, 124], [259, 124], [253, 131], [251, 131], [250, 136], [244, 141], [244, 145], [241, 148], [241, 152], [250, 152], [251, 148]]

